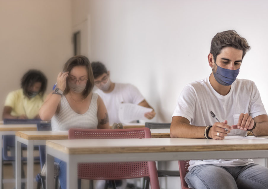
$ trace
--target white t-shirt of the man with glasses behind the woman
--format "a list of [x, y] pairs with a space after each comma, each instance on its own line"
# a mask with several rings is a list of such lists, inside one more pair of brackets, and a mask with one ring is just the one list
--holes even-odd
[[114, 90], [105, 93], [100, 89], [95, 91], [102, 98], [109, 116], [109, 123], [119, 123], [118, 111], [120, 103], [139, 104], [144, 100], [141, 92], [132, 84], [115, 83]]

